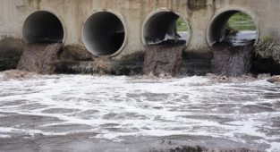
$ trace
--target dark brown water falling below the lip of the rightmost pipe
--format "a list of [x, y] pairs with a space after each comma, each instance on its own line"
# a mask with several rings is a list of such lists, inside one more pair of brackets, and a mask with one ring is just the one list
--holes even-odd
[[230, 42], [213, 45], [212, 70], [216, 75], [241, 77], [250, 74], [254, 40], [244, 42], [244, 46], [233, 46]]

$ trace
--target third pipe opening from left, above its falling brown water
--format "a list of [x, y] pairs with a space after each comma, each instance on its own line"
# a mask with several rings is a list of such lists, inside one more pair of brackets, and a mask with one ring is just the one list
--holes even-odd
[[[167, 39], [178, 39], [176, 24], [179, 18], [180, 16], [178, 14], [167, 11], [153, 14], [144, 24], [142, 31], [144, 44], [157, 44]], [[185, 26], [189, 29], [186, 22]], [[180, 33], [181, 38], [187, 40], [188, 33], [182, 32], [182, 34], [183, 36]]]

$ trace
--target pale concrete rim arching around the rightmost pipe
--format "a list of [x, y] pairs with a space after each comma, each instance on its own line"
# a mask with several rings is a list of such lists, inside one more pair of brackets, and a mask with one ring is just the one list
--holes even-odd
[[259, 25], [257, 24], [256, 18], [253, 15], [253, 13], [248, 12], [247, 10], [244, 10], [242, 8], [229, 8], [229, 9], [221, 9], [219, 11], [217, 11], [214, 16], [211, 18], [211, 20], [208, 22], [208, 28], [207, 28], [207, 33], [206, 33], [206, 38], [207, 38], [207, 42], [208, 42], [208, 46], [212, 47], [212, 44], [210, 42], [210, 38], [209, 38], [209, 33], [210, 33], [210, 27], [213, 23], [213, 21], [215, 21], [215, 19], [226, 12], [231, 12], [231, 11], [237, 11], [237, 12], [242, 12], [242, 13], [246, 13], [247, 15], [250, 16], [250, 18], [252, 19], [252, 21], [254, 21], [254, 24], [256, 26], [256, 32], [257, 32], [257, 36], [256, 36], [256, 41], [254, 43], [254, 46], [258, 45], [259, 43]]

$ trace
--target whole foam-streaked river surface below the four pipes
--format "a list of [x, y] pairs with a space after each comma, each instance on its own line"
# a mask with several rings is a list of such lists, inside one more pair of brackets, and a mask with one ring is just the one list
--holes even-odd
[[280, 84], [0, 73], [0, 151], [280, 151]]

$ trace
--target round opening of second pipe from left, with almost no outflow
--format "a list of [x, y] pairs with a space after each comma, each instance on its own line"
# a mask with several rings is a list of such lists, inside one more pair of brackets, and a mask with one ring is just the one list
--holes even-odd
[[126, 38], [123, 22], [114, 13], [92, 14], [82, 30], [82, 41], [92, 55], [115, 55]]

